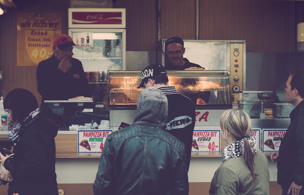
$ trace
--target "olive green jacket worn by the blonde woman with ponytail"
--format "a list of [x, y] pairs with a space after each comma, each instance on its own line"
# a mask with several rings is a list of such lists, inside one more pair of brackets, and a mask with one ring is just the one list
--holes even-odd
[[209, 195], [269, 195], [268, 160], [261, 150], [254, 154], [254, 163], [257, 181], [252, 183], [244, 158], [228, 158], [214, 173]]

